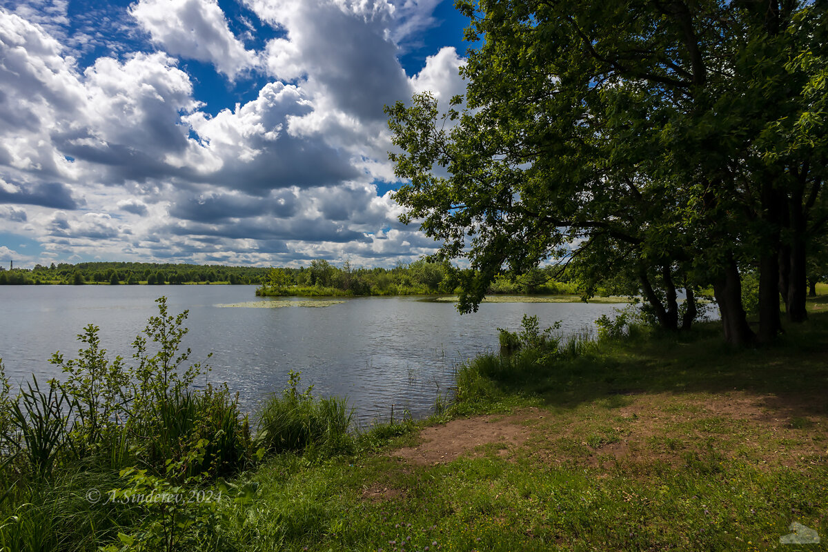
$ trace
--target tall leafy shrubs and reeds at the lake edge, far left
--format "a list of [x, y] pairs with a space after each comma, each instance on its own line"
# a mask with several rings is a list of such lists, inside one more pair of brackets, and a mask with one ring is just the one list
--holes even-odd
[[32, 378], [12, 399], [0, 365], [4, 465], [48, 478], [56, 463], [98, 458], [109, 468], [138, 463], [165, 473], [168, 461], [190, 458], [199, 443], [203, 454], [179, 477], [228, 474], [247, 463], [250, 430], [238, 396], [226, 385], [192, 389], [205, 370], [188, 362], [189, 348], [180, 348], [188, 313], [169, 314], [166, 297], [156, 303], [158, 315], [132, 343], [134, 366], [121, 357], [108, 360], [93, 324], [78, 335], [84, 345], [78, 358], [51, 358], [65, 382], [51, 380], [48, 390]]

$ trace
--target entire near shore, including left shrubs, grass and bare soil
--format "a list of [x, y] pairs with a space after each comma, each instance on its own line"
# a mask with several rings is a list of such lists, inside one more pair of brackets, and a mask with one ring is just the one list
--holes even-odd
[[569, 339], [524, 317], [457, 368], [429, 420], [355, 430], [343, 399], [291, 373], [253, 430], [159, 300], [132, 365], [88, 327], [77, 358], [52, 358], [62, 383], [4, 387], [0, 550], [772, 550], [792, 521], [828, 535], [826, 295], [810, 305], [762, 354], [635, 307]]

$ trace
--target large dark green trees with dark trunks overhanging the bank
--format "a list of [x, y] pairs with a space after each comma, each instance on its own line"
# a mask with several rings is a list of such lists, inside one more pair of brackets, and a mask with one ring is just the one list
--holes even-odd
[[[676, 288], [712, 286], [752, 343], [740, 267], [760, 273], [759, 337], [805, 318], [824, 233], [825, 2], [480, 0], [464, 98], [387, 108], [403, 220], [468, 257], [462, 310], [500, 271], [546, 259], [590, 286], [627, 274], [662, 326]], [[461, 107], [463, 106], [463, 107]], [[438, 169], [439, 168], [439, 169]]]

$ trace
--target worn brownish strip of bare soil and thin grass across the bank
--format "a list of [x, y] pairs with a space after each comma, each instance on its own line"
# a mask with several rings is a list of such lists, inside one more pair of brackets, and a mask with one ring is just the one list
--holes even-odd
[[499, 456], [523, 452], [546, 462], [599, 469], [653, 463], [678, 467], [688, 454], [720, 454], [767, 466], [828, 463], [828, 413], [819, 399], [803, 403], [791, 408], [788, 397], [733, 391], [636, 395], [628, 406], [596, 404], [571, 413], [531, 408], [426, 428], [421, 444], [392, 456], [435, 465], [484, 454], [479, 447], [494, 444]]

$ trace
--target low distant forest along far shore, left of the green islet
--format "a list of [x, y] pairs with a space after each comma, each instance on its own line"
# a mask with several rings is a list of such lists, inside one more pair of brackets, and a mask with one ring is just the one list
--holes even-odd
[[0, 285], [26, 284], [259, 284], [261, 266], [186, 265], [156, 262], [61, 262], [50, 266], [0, 270]]

